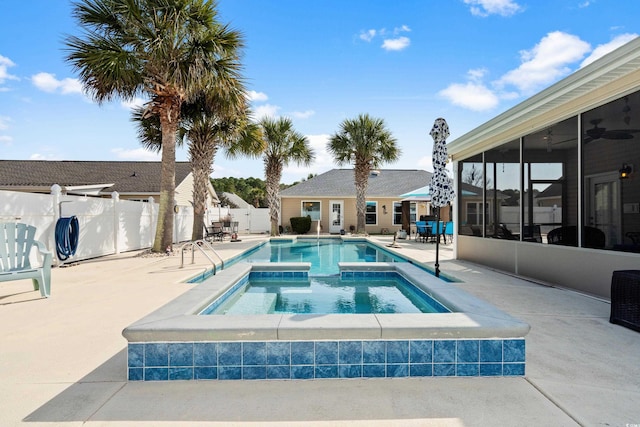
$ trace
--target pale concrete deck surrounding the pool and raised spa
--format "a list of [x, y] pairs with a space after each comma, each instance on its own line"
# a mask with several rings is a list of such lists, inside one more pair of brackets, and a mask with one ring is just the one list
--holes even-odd
[[[216, 249], [228, 258], [256, 239]], [[435, 245], [398, 244], [435, 259]], [[607, 301], [451, 253], [441, 246], [441, 270], [463, 280], [452, 286], [531, 325], [524, 378], [127, 382], [122, 330], [191, 289], [181, 281], [207, 265], [125, 253], [53, 269], [49, 299], [27, 280], [0, 284], [0, 425], [640, 424], [640, 335], [609, 323]]]

